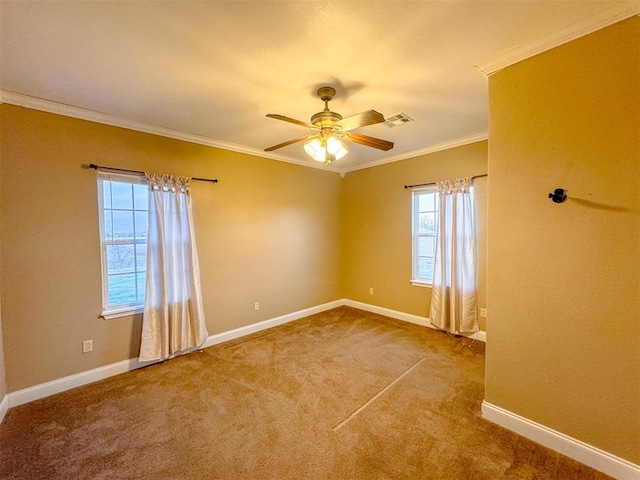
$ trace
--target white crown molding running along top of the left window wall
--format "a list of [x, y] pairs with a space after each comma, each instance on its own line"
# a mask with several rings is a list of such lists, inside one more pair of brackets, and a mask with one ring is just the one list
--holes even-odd
[[[51, 100], [32, 97], [30, 95], [23, 95], [21, 93], [0, 90], [0, 99], [0, 103], [4, 102], [11, 105], [16, 105], [18, 107], [31, 108], [33, 110], [40, 110], [48, 113], [55, 113], [57, 115], [63, 115], [65, 117], [72, 117], [80, 120], [102, 123], [104, 125], [126, 128], [128, 130], [135, 130], [143, 133], [150, 133], [152, 135], [159, 135], [161, 137], [173, 138], [190, 143], [197, 143], [199, 145], [206, 145], [208, 147], [220, 148], [222, 150], [244, 153], [246, 155], [253, 155], [256, 157], [279, 160], [281, 162], [294, 163], [296, 165], [302, 165], [304, 167], [327, 170], [327, 167], [325, 167], [324, 164], [317, 164], [317, 162], [316, 164], [312, 164], [303, 160], [296, 160], [290, 157], [285, 157], [283, 155], [265, 152], [257, 148], [245, 147], [243, 145], [238, 145], [230, 142], [223, 142], [221, 140], [215, 140], [203, 135], [196, 135], [193, 133], [182, 132], [180, 130], [160, 127], [158, 125], [153, 125], [150, 123], [138, 122], [136, 120], [117, 117], [115, 115], [109, 115], [106, 113], [97, 112], [95, 110], [88, 110], [86, 108], [74, 107], [73, 105], [53, 102]], [[331, 169], [331, 171], [338, 173], [335, 169]]]

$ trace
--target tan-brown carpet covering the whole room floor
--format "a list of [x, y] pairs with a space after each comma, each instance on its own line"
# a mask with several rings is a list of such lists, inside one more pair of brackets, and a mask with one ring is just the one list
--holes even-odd
[[600, 479], [480, 417], [484, 344], [349, 307], [11, 409], [3, 479]]

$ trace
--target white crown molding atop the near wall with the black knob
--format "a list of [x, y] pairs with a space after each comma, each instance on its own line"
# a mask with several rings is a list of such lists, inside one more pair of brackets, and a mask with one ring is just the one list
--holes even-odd
[[550, 35], [504, 50], [474, 66], [484, 75], [491, 76], [510, 65], [638, 14], [640, 14], [638, 2], [620, 2]]

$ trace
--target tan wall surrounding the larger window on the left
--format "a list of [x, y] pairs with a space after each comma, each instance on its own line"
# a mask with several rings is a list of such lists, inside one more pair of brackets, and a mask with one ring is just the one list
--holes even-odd
[[[4, 104], [2, 322], [9, 392], [138, 354], [140, 315], [104, 320], [98, 163], [194, 182], [210, 334], [340, 298], [340, 177]], [[260, 310], [254, 311], [254, 302]], [[81, 353], [93, 339], [94, 351]]]

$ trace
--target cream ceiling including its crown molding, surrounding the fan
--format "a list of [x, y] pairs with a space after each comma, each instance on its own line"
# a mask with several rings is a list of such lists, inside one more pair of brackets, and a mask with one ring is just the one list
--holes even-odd
[[[344, 173], [488, 136], [487, 76], [640, 12], [638, 1], [0, 1], [3, 102]], [[325, 167], [323, 108], [413, 121], [355, 130]]]

